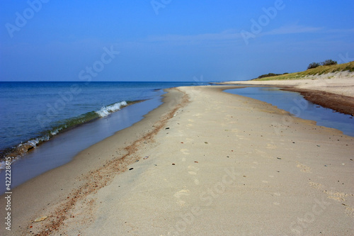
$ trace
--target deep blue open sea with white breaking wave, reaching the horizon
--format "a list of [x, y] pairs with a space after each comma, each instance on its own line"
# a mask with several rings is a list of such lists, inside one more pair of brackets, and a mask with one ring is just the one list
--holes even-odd
[[0, 82], [0, 150], [38, 145], [62, 130], [108, 116], [125, 101], [152, 99], [194, 82]]

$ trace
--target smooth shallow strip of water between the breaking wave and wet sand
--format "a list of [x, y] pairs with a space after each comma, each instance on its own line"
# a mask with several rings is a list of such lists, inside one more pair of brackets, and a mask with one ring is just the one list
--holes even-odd
[[[80, 125], [55, 135], [48, 142], [43, 142], [40, 147], [31, 150], [22, 159], [11, 163], [12, 172], [16, 173], [11, 179], [12, 189], [50, 169], [70, 162], [82, 150], [142, 120], [144, 114], [162, 103], [161, 99], [161, 96], [156, 96], [149, 101], [132, 104], [120, 112], [110, 114], [107, 118]], [[93, 133], [95, 135], [92, 135]], [[5, 181], [5, 175], [5, 170], [2, 170], [0, 179]], [[4, 186], [0, 186], [0, 195], [4, 192]]]

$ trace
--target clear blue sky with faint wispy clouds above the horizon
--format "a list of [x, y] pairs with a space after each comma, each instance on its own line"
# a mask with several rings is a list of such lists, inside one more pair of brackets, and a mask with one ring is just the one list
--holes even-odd
[[217, 82], [298, 72], [354, 60], [353, 15], [353, 0], [3, 0], [0, 81]]

